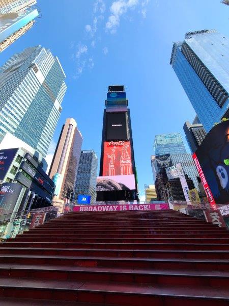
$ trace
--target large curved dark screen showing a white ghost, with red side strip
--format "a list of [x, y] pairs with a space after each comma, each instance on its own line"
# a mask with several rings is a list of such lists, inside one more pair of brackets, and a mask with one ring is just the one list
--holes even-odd
[[229, 204], [229, 120], [215, 125], [192, 157], [209, 202]]

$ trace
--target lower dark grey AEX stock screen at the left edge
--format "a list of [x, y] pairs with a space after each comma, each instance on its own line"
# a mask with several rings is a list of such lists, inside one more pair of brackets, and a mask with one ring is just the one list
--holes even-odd
[[0, 214], [12, 213], [20, 196], [22, 186], [14, 183], [3, 183], [0, 187]]

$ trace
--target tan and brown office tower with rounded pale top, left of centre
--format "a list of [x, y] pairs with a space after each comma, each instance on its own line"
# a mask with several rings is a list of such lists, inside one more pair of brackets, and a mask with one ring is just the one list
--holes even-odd
[[81, 146], [82, 135], [75, 120], [66, 119], [48, 173], [56, 186], [54, 199], [66, 201], [73, 198]]

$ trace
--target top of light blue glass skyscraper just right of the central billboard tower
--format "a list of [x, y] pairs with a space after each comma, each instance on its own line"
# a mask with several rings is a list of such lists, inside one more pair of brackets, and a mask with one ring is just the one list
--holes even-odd
[[154, 139], [155, 155], [187, 153], [180, 133], [160, 134]]

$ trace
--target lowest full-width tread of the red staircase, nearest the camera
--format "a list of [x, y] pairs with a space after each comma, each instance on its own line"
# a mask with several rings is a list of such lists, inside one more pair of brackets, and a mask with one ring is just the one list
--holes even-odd
[[116, 282], [75, 282], [75, 281], [56, 281], [52, 279], [33, 279], [30, 278], [5, 278], [0, 277], [0, 288], [31, 288], [42, 290], [67, 290], [67, 291], [86, 291], [100, 293], [125, 293], [136, 295], [159, 295], [159, 296], [179, 296], [191, 298], [212, 298], [229, 301], [229, 291], [227, 288], [209, 288], [203, 286], [169, 286], [169, 285], [150, 285], [132, 284]]

